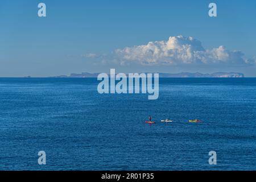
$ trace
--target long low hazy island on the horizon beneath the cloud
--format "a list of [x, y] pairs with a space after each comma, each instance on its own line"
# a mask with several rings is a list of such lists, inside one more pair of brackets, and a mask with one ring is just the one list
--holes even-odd
[[[71, 73], [71, 75], [54, 76], [55, 78], [96, 78], [100, 73]], [[212, 74], [203, 73], [159, 73], [159, 77], [164, 78], [243, 78], [243, 73], [217, 72]]]

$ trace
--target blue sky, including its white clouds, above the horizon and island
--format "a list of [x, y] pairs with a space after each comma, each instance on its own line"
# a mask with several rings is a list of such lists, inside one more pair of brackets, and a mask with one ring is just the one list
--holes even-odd
[[[38, 16], [40, 2], [46, 17]], [[208, 15], [210, 2], [217, 4], [217, 17]], [[2, 0], [0, 24], [0, 77], [110, 68], [256, 76], [255, 0]]]

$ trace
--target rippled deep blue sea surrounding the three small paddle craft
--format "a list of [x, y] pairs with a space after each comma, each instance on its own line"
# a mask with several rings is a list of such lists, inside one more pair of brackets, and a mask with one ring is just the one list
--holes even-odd
[[98, 94], [97, 84], [0, 78], [0, 169], [256, 169], [256, 78], [160, 78], [158, 100]]

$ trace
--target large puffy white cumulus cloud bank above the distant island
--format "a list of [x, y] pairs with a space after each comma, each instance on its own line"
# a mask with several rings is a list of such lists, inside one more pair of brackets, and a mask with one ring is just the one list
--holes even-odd
[[255, 64], [255, 59], [244, 59], [241, 51], [230, 51], [224, 46], [204, 49], [192, 37], [171, 36], [168, 41], [149, 42], [147, 45], [115, 50], [121, 64], [135, 62], [143, 65], [191, 64]]

